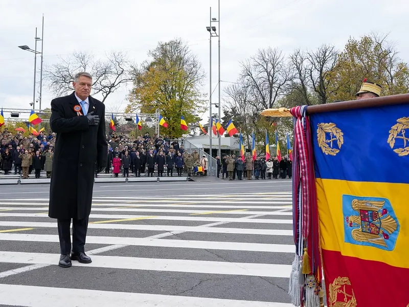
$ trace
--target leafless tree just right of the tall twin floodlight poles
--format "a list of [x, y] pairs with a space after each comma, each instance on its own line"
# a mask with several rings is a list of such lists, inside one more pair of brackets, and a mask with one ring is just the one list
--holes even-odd
[[277, 48], [261, 49], [241, 66], [241, 81], [249, 87], [253, 96], [250, 103], [258, 111], [273, 107], [293, 78], [282, 51]]

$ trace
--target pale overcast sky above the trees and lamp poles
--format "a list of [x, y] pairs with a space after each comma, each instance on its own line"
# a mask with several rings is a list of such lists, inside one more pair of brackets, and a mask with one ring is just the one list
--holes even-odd
[[[180, 37], [198, 55], [209, 91], [209, 8], [217, 17], [217, 0], [0, 0], [0, 107], [30, 108], [33, 97], [35, 27], [44, 13], [44, 64], [76, 51], [96, 56], [119, 50], [137, 63], [158, 41]], [[259, 48], [313, 49], [331, 43], [338, 49], [349, 36], [373, 31], [390, 33], [400, 56], [409, 61], [409, 1], [407, 0], [221, 0], [221, 80], [235, 81], [239, 61]], [[213, 40], [213, 87], [217, 84], [217, 41]], [[39, 60], [37, 61], [39, 69]], [[362, 78], [365, 76], [362, 76]], [[37, 75], [37, 80], [39, 74]], [[228, 83], [222, 83], [226, 86]], [[108, 97], [122, 103], [129, 88]], [[43, 85], [42, 107], [52, 93]], [[213, 96], [217, 99], [217, 91]], [[96, 97], [98, 98], [98, 96]]]

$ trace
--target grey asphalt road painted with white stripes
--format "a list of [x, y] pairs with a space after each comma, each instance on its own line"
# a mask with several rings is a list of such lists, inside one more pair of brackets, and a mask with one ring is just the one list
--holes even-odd
[[290, 306], [289, 180], [95, 184], [93, 262], [69, 269], [49, 185], [0, 197], [1, 306]]

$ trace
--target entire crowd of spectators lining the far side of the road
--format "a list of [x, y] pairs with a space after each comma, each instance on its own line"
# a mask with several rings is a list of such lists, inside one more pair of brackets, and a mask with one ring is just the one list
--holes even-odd
[[[41, 170], [46, 171], [47, 178], [51, 178], [55, 133], [38, 136], [24, 136], [21, 131], [11, 133], [4, 129], [0, 144], [1, 169], [5, 174], [21, 174], [22, 178], [29, 178], [32, 172], [35, 178], [40, 178]], [[115, 177], [129, 177], [133, 174], [145, 176], [173, 177], [195, 176], [197, 172], [207, 176], [209, 160], [206, 155], [200, 155], [197, 149], [185, 150], [184, 145], [177, 139], [170, 140], [167, 136], [144, 136], [130, 138], [125, 134], [117, 135], [115, 131], [107, 136], [108, 159], [105, 173], [113, 173]], [[201, 168], [200, 168], [201, 167]], [[217, 177], [229, 180], [278, 179], [291, 178], [291, 160], [283, 157], [265, 159], [263, 155], [253, 161], [251, 155], [244, 159], [235, 155], [216, 157]], [[96, 173], [96, 177], [97, 177]]]

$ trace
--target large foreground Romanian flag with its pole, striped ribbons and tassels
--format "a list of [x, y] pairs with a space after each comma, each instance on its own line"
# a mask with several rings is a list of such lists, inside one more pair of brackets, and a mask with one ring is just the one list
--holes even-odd
[[293, 304], [323, 306], [325, 291], [328, 307], [406, 307], [409, 94], [289, 112]]

